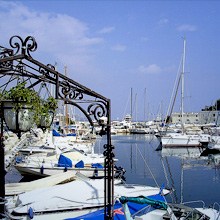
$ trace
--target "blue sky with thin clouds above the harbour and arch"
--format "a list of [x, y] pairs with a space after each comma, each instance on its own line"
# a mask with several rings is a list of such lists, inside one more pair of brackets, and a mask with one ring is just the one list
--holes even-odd
[[[35, 37], [42, 63], [111, 99], [112, 119], [166, 114], [186, 38], [184, 110], [219, 95], [220, 1], [0, 1], [0, 44]], [[178, 95], [180, 98], [180, 93]], [[180, 110], [177, 99], [174, 111]], [[161, 105], [161, 103], [163, 103]]]

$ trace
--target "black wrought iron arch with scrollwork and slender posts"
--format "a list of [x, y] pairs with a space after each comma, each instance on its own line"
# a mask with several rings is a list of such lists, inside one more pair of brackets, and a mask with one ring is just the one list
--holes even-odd
[[[31, 53], [37, 50], [37, 42], [34, 37], [28, 36], [22, 39], [13, 36], [9, 40], [12, 49], [0, 46], [0, 89], [6, 89], [10, 83], [18, 77], [29, 82], [30, 88], [36, 88], [43, 82], [55, 87], [55, 98], [65, 104], [76, 106], [86, 116], [93, 126], [93, 120], [102, 127], [103, 133], [107, 134], [105, 152], [105, 218], [113, 219], [114, 206], [114, 153], [111, 145], [111, 109], [110, 99], [95, 91], [79, 84], [64, 74], [56, 71], [55, 66], [43, 64], [35, 60]], [[2, 116], [2, 114], [1, 114]], [[100, 120], [107, 118], [107, 123]], [[4, 146], [3, 146], [3, 116], [1, 117], [1, 148], [0, 148], [0, 185], [4, 184]], [[0, 192], [4, 198], [5, 191]]]

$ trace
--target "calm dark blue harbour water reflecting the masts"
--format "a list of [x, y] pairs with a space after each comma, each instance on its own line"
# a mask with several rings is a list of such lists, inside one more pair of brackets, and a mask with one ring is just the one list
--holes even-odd
[[[105, 143], [106, 137], [98, 138], [95, 152], [102, 152]], [[164, 184], [175, 190], [168, 198], [170, 202], [182, 199], [203, 200], [207, 206], [220, 204], [219, 154], [200, 156], [203, 150], [199, 148], [158, 151], [159, 141], [154, 135], [112, 136], [112, 144], [119, 159], [116, 165], [126, 170], [127, 183]]]

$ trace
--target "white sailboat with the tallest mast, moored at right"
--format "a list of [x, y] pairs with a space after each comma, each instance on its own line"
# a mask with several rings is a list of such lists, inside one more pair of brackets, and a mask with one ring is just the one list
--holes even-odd
[[186, 134], [184, 132], [183, 123], [183, 99], [184, 99], [184, 72], [185, 72], [185, 45], [186, 39], [184, 38], [183, 60], [182, 60], [182, 73], [181, 73], [181, 115], [182, 115], [182, 132], [169, 133], [161, 137], [162, 147], [200, 147], [208, 145], [210, 135], [208, 134]]

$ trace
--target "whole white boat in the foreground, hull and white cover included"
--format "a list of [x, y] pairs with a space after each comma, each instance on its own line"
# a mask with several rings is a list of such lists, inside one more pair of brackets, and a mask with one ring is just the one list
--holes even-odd
[[[115, 182], [114, 198], [121, 196], [151, 196], [157, 195], [160, 188], [127, 185]], [[163, 189], [164, 195], [169, 190]], [[104, 207], [104, 180], [76, 180], [62, 185], [46, 187], [20, 194], [8, 199], [7, 213], [11, 219], [28, 219], [29, 210], [34, 213], [34, 219], [66, 219], [73, 218], [91, 209]]]

